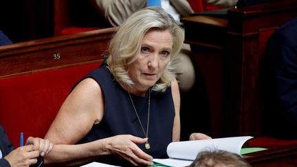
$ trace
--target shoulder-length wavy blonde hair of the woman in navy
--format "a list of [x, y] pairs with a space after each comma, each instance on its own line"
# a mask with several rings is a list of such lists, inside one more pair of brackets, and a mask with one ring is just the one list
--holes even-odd
[[[170, 62], [159, 78], [154, 91], [165, 91], [175, 77], [171, 67], [173, 57], [177, 55], [184, 43], [184, 32], [165, 10], [158, 7], [144, 8], [132, 14], [115, 32], [109, 43], [107, 64], [115, 80], [124, 85], [133, 85], [126, 66], [133, 63], [140, 54], [142, 39], [150, 30], [169, 30], [173, 36], [173, 51]], [[129, 60], [129, 58], [131, 58]]]

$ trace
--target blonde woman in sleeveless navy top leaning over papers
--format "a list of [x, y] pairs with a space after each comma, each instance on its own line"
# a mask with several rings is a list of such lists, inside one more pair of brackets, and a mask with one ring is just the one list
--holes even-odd
[[45, 163], [138, 166], [167, 157], [180, 131], [170, 63], [183, 42], [184, 32], [161, 8], [129, 17], [111, 40], [107, 62], [76, 85], [56, 115], [45, 136], [56, 145]]

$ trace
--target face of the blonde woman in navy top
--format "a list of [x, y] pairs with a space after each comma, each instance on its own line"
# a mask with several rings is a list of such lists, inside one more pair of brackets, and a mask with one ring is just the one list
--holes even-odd
[[133, 89], [146, 91], [155, 85], [166, 69], [173, 49], [173, 36], [168, 30], [151, 30], [143, 38], [140, 55], [128, 66]]

